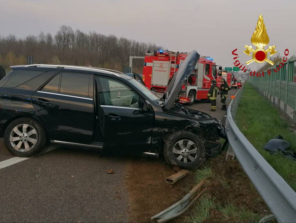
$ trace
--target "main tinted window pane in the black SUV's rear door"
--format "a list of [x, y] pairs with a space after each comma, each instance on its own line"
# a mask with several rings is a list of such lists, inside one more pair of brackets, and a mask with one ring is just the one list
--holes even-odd
[[89, 74], [62, 73], [60, 94], [78, 97], [88, 97]]

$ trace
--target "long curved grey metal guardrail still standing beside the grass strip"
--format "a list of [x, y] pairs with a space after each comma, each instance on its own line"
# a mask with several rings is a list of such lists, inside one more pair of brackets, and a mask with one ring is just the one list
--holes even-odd
[[235, 118], [244, 86], [231, 100], [226, 134], [237, 160], [278, 222], [296, 222], [296, 193], [239, 131]]

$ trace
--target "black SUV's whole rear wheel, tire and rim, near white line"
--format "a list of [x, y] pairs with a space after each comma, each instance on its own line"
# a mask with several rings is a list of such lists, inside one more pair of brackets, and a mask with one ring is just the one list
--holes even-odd
[[4, 131], [4, 144], [7, 150], [18, 157], [31, 157], [44, 147], [46, 133], [37, 121], [31, 118], [18, 118]]

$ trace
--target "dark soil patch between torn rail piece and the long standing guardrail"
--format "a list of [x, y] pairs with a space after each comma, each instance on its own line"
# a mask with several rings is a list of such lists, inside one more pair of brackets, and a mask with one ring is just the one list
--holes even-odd
[[[267, 205], [260, 197], [250, 179], [244, 173], [237, 160], [224, 161], [225, 152], [217, 158], [208, 161], [214, 173], [208, 179], [207, 191], [211, 197], [215, 197], [222, 204], [232, 203], [237, 208], [244, 208], [259, 216], [271, 214]], [[217, 210], [212, 211], [218, 212]], [[223, 215], [211, 214], [207, 222], [223, 222]], [[247, 222], [249, 219], [241, 219]], [[228, 219], [228, 222], [238, 221], [238, 219]]]

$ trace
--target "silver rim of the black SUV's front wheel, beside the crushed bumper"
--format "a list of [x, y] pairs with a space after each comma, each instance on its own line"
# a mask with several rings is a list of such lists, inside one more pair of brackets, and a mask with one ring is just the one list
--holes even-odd
[[197, 158], [197, 145], [189, 139], [178, 140], [173, 146], [173, 155], [183, 163], [193, 162]]

